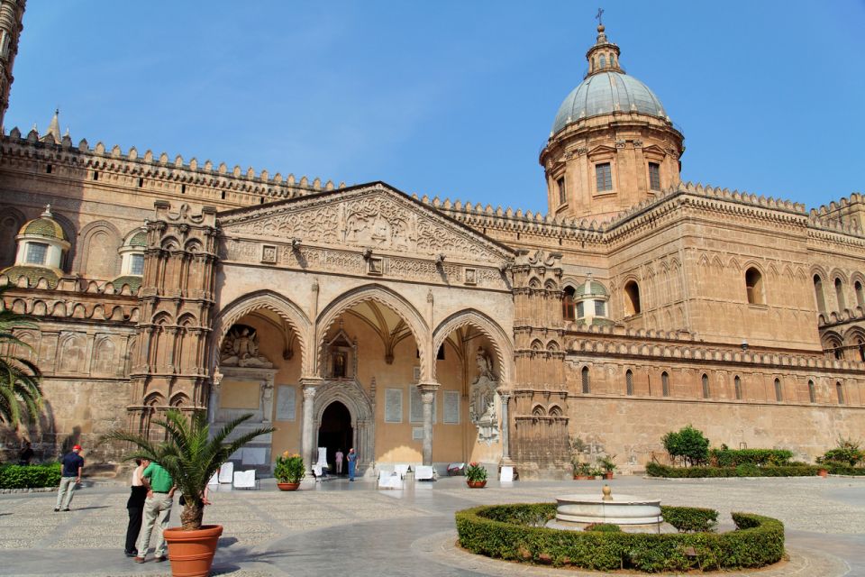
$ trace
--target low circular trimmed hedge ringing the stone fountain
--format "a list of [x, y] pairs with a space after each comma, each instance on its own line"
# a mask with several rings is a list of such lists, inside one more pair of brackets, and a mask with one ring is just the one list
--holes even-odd
[[729, 533], [669, 535], [543, 527], [555, 514], [555, 503], [458, 511], [460, 545], [472, 553], [509, 561], [569, 565], [595, 571], [752, 568], [777, 563], [784, 554], [784, 525], [777, 519], [749, 513], [733, 513], [737, 530]]

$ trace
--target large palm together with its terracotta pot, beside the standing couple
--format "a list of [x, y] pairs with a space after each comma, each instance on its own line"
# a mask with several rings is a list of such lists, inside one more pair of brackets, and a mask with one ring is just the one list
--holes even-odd
[[153, 421], [154, 425], [165, 429], [166, 441], [162, 443], [154, 443], [147, 437], [123, 430], [113, 431], [103, 437], [103, 440], [124, 441], [134, 445], [137, 450], [126, 457], [127, 461], [149, 459], [159, 463], [183, 493], [186, 503], [180, 513], [181, 527], [168, 528], [163, 533], [168, 543], [171, 572], [175, 575], [206, 577], [210, 573], [223, 527], [202, 525], [207, 482], [244, 444], [276, 430], [263, 427], [226, 442], [232, 431], [250, 417], [252, 415], [236, 418], [211, 436], [205, 411], [196, 411], [187, 419], [178, 409], [172, 408], [166, 411], [164, 419]]

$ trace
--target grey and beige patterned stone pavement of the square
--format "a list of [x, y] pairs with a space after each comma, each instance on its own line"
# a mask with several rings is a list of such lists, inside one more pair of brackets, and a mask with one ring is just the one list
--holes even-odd
[[[607, 481], [616, 492], [664, 504], [742, 510], [778, 517], [788, 532], [790, 560], [769, 575], [865, 576], [865, 480]], [[475, 504], [551, 501], [565, 493], [600, 493], [603, 481], [517, 481], [469, 490], [461, 478], [407, 481], [404, 490], [376, 490], [372, 481], [344, 480], [276, 490], [217, 490], [205, 522], [223, 525], [214, 574], [237, 577], [351, 572], [364, 575], [526, 575], [582, 572], [478, 560], [453, 546], [453, 512]], [[167, 563], [136, 564], [123, 556], [122, 485], [76, 491], [72, 511], [54, 513], [54, 493], [0, 495], [0, 575], [168, 575]], [[179, 508], [175, 505], [174, 521]], [[174, 525], [175, 523], [172, 523]], [[421, 569], [423, 568], [423, 569]], [[598, 574], [598, 573], [585, 573]]]

